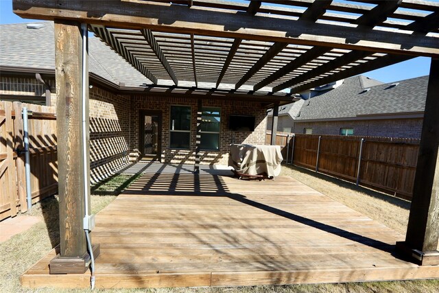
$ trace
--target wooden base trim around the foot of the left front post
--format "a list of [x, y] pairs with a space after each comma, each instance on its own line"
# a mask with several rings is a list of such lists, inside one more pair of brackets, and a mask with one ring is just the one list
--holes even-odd
[[[93, 245], [95, 259], [100, 253], [99, 244]], [[91, 257], [85, 253], [82, 257], [61, 257], [59, 254], [49, 263], [49, 274], [84, 274], [90, 266]]]

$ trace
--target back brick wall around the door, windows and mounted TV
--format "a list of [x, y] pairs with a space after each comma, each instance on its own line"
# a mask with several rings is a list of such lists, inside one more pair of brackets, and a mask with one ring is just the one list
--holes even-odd
[[[130, 148], [139, 148], [139, 111], [140, 110], [161, 110], [162, 113], [162, 152], [163, 163], [195, 163], [195, 139], [196, 139], [196, 117], [198, 100], [184, 97], [158, 97], [134, 95], [131, 101], [131, 132]], [[191, 106], [191, 148], [190, 150], [169, 149], [169, 113], [172, 105]], [[201, 151], [202, 164], [228, 163], [228, 151], [230, 143], [265, 143], [265, 108], [260, 103], [222, 100], [203, 100], [203, 106], [221, 108], [221, 130], [219, 134], [219, 151]], [[228, 130], [229, 115], [254, 115], [254, 132], [235, 132]]]

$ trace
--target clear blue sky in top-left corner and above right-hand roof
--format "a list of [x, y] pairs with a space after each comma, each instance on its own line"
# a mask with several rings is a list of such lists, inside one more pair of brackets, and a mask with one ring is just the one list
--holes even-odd
[[[0, 0], [0, 24], [28, 22], [33, 21], [29, 19], [22, 19], [20, 16], [12, 13], [12, 0]], [[428, 75], [429, 68], [430, 58], [417, 57], [395, 65], [362, 73], [362, 75], [388, 83]]]

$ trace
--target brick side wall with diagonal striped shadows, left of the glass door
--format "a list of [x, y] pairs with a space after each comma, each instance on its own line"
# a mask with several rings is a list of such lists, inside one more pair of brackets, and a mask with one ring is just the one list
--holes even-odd
[[90, 168], [96, 183], [128, 162], [130, 96], [93, 86], [90, 95]]

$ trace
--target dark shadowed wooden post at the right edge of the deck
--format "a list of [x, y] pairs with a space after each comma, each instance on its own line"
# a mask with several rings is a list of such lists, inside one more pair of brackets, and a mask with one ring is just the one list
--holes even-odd
[[423, 129], [405, 242], [396, 247], [421, 265], [439, 265], [439, 59], [431, 59]]

